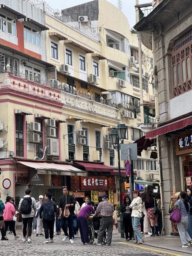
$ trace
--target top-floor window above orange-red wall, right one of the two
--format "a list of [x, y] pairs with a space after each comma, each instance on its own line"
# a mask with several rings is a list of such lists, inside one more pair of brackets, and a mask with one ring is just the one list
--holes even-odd
[[24, 25], [24, 40], [30, 44], [41, 46], [40, 31]]

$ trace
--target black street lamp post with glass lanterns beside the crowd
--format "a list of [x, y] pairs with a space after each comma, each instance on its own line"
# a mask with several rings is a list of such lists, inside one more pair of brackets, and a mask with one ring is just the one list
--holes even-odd
[[[119, 124], [117, 125], [117, 128], [113, 129], [109, 133], [109, 138], [111, 140], [111, 144], [113, 145], [113, 148], [117, 151], [118, 156], [118, 180], [119, 180], [119, 204], [120, 207], [122, 205], [122, 198], [121, 198], [121, 166], [120, 166], [120, 144], [123, 144], [124, 139], [126, 138], [127, 133], [127, 127], [125, 124]], [[119, 140], [121, 141], [119, 143]], [[121, 238], [124, 238], [124, 232], [123, 232], [123, 221], [122, 221], [122, 214], [120, 212], [120, 227], [121, 227]]]

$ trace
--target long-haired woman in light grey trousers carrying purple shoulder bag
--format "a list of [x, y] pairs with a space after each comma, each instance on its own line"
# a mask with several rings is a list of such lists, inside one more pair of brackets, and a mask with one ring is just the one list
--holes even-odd
[[189, 202], [187, 199], [186, 192], [180, 192], [179, 200], [175, 203], [176, 207], [180, 207], [181, 212], [181, 220], [177, 223], [180, 240], [183, 244], [182, 247], [189, 247], [189, 244], [192, 245], [191, 237], [189, 236], [189, 233], [187, 232], [188, 229], [188, 223], [189, 223]]

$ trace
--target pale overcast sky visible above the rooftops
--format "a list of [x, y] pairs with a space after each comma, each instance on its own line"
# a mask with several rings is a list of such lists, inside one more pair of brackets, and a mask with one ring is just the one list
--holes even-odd
[[[87, 3], [91, 0], [45, 0], [46, 3], [52, 7], [53, 9], [58, 9], [61, 11], [62, 9], [66, 9], [71, 6], [76, 6], [81, 3]], [[118, 0], [108, 0], [108, 2], [112, 3], [117, 7]], [[139, 0], [139, 3], [150, 3], [152, 0]], [[127, 16], [130, 28], [132, 28], [135, 24], [135, 0], [122, 0], [122, 12]]]

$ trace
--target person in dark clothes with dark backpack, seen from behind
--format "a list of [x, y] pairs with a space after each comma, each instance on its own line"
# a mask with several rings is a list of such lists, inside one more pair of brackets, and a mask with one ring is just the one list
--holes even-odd
[[45, 201], [42, 202], [39, 216], [42, 218], [44, 225], [44, 233], [45, 233], [45, 241], [44, 244], [53, 242], [53, 234], [54, 234], [54, 223], [55, 223], [55, 212], [57, 211], [57, 207], [54, 201], [51, 200], [52, 194], [47, 192], [44, 195]]

